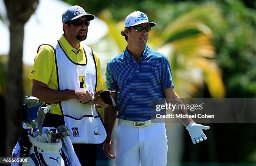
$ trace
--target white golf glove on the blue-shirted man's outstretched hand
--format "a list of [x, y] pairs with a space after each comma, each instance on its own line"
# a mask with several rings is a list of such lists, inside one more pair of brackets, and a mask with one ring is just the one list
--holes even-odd
[[197, 123], [190, 123], [186, 128], [189, 131], [192, 142], [195, 144], [199, 143], [200, 141], [203, 141], [203, 139], [207, 139], [205, 134], [202, 132], [202, 129], [207, 130], [210, 128], [210, 126], [203, 126]]

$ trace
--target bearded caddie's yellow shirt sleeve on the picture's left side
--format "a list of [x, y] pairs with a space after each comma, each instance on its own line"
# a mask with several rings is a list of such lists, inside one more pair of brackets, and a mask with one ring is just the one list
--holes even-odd
[[48, 85], [54, 66], [54, 50], [49, 45], [43, 45], [35, 57], [34, 65], [28, 74], [28, 78]]

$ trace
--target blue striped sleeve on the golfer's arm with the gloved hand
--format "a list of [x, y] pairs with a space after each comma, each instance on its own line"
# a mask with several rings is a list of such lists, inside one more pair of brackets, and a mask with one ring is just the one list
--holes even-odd
[[172, 71], [171, 65], [169, 63], [168, 58], [165, 56], [162, 66], [162, 73], [160, 77], [161, 88], [164, 91], [167, 88], [174, 87], [172, 82]]

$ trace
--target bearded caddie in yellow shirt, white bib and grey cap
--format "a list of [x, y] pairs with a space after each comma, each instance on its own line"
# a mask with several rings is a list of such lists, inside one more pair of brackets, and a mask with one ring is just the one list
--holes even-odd
[[96, 104], [84, 104], [105, 88], [99, 56], [81, 43], [87, 38], [90, 21], [94, 18], [77, 5], [64, 11], [64, 34], [54, 48], [50, 45], [38, 48], [28, 75], [33, 80], [32, 96], [52, 105], [44, 126], [69, 128], [69, 138], [82, 166], [96, 165], [97, 145], [106, 139], [96, 108], [105, 108], [108, 104], [102, 98]]

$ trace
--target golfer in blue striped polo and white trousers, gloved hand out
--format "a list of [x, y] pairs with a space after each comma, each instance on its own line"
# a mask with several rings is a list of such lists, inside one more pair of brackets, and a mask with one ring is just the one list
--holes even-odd
[[[168, 58], [147, 45], [148, 34], [154, 26], [156, 23], [150, 22], [145, 13], [136, 11], [128, 15], [125, 29], [121, 32], [127, 47], [107, 64], [107, 88], [120, 93], [113, 95], [117, 107], [105, 108], [104, 123], [108, 136], [104, 151], [108, 158], [116, 159], [117, 166], [166, 166], [165, 124], [156, 123], [156, 118], [152, 118], [151, 101], [153, 98], [165, 98], [167, 102], [173, 99], [183, 104], [174, 91]], [[181, 113], [187, 114], [187, 111], [182, 110]], [[114, 156], [110, 151], [116, 118]], [[193, 143], [206, 139], [202, 129], [209, 126], [196, 124], [191, 118], [183, 119], [182, 123]]]

